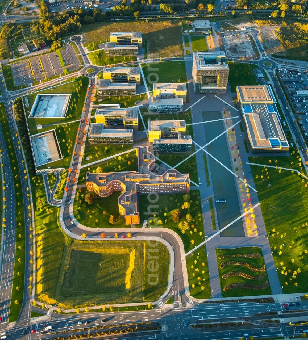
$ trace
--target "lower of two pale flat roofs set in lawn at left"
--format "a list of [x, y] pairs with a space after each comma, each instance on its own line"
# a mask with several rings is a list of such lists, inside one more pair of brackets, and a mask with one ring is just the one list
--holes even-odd
[[30, 141], [36, 167], [62, 158], [55, 130], [30, 136]]

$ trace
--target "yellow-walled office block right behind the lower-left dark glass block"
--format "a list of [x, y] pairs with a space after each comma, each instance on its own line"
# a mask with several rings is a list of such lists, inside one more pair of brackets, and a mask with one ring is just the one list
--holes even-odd
[[138, 108], [97, 108], [95, 122], [106, 125], [123, 125], [126, 129], [138, 130]]

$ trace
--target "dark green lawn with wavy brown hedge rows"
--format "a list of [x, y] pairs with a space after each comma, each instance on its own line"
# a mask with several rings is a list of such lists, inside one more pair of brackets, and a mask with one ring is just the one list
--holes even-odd
[[216, 249], [216, 256], [223, 297], [272, 294], [261, 248]]

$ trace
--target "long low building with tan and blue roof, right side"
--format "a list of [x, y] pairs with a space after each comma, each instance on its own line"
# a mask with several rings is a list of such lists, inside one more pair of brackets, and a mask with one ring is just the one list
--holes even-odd
[[252, 151], [289, 150], [270, 86], [237, 86], [236, 91]]

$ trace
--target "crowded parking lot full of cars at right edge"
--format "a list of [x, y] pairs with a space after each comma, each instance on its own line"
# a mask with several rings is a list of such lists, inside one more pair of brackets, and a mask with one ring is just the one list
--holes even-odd
[[308, 76], [306, 72], [278, 69], [278, 74], [294, 113], [308, 116]]

